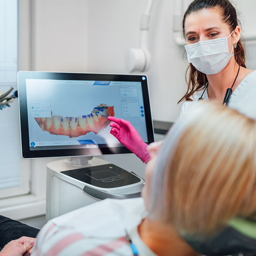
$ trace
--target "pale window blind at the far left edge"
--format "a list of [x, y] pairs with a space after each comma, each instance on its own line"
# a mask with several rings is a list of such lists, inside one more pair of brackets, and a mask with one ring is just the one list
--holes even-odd
[[[0, 0], [0, 90], [17, 90], [19, 0]], [[11, 92], [11, 94], [13, 93]], [[16, 98], [0, 110], [0, 189], [21, 185], [19, 108]]]

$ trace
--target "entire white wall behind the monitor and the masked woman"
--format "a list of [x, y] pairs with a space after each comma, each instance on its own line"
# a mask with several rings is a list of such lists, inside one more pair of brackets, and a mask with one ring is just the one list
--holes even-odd
[[[25, 1], [25, 0], [24, 0]], [[127, 53], [139, 47], [139, 23], [148, 0], [33, 0], [32, 68], [36, 71], [128, 73]], [[184, 9], [190, 0], [184, 1]], [[256, 26], [254, 0], [237, 0], [245, 35]], [[246, 3], [246, 4], [245, 4]], [[173, 41], [174, 0], [155, 0], [149, 49], [154, 120], [174, 121], [185, 92], [184, 48]], [[248, 32], [252, 31], [252, 32]], [[255, 33], [256, 34], [256, 33]], [[256, 68], [256, 46], [248, 65]]]

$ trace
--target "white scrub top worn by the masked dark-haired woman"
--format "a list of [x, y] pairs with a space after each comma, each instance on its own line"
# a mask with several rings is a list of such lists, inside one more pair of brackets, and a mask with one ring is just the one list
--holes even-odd
[[[192, 102], [184, 102], [181, 108], [181, 116], [188, 111], [188, 109], [196, 104], [198, 99], [203, 94], [203, 90], [196, 92], [192, 96]], [[207, 90], [204, 92], [204, 100], [209, 100]], [[248, 74], [233, 91], [229, 102], [230, 109], [236, 109], [238, 112], [247, 117], [256, 119], [256, 71]]]

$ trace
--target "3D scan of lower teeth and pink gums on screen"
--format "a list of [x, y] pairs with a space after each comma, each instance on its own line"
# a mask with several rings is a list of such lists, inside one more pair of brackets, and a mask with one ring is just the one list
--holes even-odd
[[106, 128], [110, 121], [107, 117], [114, 117], [114, 107], [106, 104], [98, 105], [89, 115], [79, 117], [35, 117], [42, 131], [50, 134], [78, 137], [88, 132], [95, 134]]

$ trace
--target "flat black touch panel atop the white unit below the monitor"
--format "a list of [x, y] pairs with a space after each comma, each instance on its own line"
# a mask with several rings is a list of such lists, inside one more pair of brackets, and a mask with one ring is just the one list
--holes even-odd
[[60, 172], [99, 188], [118, 188], [138, 183], [139, 177], [113, 164]]

